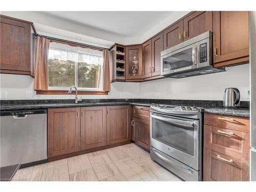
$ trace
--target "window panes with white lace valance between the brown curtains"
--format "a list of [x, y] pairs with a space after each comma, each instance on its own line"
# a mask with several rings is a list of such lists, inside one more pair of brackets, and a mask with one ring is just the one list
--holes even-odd
[[48, 54], [49, 90], [102, 91], [103, 52], [50, 42]]

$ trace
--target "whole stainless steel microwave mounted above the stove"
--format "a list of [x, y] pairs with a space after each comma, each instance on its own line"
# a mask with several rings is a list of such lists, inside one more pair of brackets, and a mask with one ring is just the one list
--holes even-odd
[[182, 78], [223, 72], [212, 67], [212, 32], [196, 37], [161, 52], [161, 75]]

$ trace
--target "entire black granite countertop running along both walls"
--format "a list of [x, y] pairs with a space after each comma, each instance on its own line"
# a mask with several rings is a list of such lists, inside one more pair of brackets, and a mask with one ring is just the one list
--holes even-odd
[[210, 100], [172, 100], [172, 99], [83, 99], [75, 103], [72, 99], [48, 100], [1, 100], [0, 111], [37, 110], [48, 108], [73, 108], [76, 106], [100, 105], [140, 105], [150, 106], [152, 103], [169, 104], [177, 106], [198, 106], [203, 113], [250, 117], [249, 102], [241, 101], [240, 108], [220, 107], [223, 101]]

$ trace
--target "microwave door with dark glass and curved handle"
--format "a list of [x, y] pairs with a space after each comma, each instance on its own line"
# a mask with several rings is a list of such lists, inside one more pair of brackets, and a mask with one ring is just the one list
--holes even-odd
[[161, 56], [161, 75], [197, 68], [197, 43]]

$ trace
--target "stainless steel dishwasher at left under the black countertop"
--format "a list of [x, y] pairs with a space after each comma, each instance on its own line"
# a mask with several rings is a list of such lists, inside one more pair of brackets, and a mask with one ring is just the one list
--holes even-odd
[[47, 110], [4, 111], [0, 116], [0, 167], [47, 161]]

